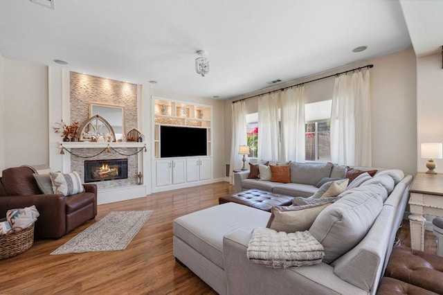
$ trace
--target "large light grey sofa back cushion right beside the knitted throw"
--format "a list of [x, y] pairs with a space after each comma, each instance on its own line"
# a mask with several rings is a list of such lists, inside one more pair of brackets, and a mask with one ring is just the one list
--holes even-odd
[[366, 186], [365, 190], [347, 190], [344, 197], [325, 208], [309, 229], [325, 247], [323, 262], [333, 262], [358, 244], [370, 230], [381, 208], [380, 190], [372, 190], [371, 186]]

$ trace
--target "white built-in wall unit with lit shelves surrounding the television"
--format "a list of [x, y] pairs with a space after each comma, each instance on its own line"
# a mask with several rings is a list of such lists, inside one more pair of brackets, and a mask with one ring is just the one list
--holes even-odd
[[[152, 110], [152, 134], [154, 135], [152, 141], [152, 191], [158, 192], [209, 183], [213, 178], [211, 157], [212, 107], [153, 96]], [[162, 129], [168, 126], [186, 127], [192, 128], [192, 130], [195, 128], [199, 129], [199, 132], [196, 132], [197, 134], [206, 134], [206, 139], [203, 139], [203, 144], [206, 145], [206, 154], [199, 152], [197, 156], [173, 158], [170, 155], [162, 155], [162, 150], [165, 151], [165, 148], [162, 149], [161, 147], [161, 136], [164, 134]], [[192, 141], [183, 142], [183, 138], [179, 139], [180, 141], [177, 140], [177, 149], [182, 148], [181, 145], [183, 144], [192, 143]], [[186, 138], [184, 140], [186, 141]], [[168, 143], [170, 145], [170, 142], [170, 140], [166, 141], [163, 138], [163, 144]], [[200, 147], [201, 144], [200, 141]]]

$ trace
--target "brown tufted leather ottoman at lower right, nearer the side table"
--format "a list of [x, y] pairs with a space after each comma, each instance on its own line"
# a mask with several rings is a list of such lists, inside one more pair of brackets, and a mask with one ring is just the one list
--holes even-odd
[[443, 257], [404, 247], [394, 247], [385, 276], [443, 294]]

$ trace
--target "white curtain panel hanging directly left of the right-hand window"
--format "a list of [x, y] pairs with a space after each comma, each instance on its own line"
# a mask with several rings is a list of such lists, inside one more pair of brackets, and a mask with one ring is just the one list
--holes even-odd
[[305, 86], [281, 93], [282, 138], [279, 161], [305, 161]]

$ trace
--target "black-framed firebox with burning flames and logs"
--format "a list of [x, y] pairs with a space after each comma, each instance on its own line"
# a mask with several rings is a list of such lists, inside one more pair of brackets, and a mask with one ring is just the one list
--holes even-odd
[[127, 178], [127, 159], [84, 161], [84, 182]]

